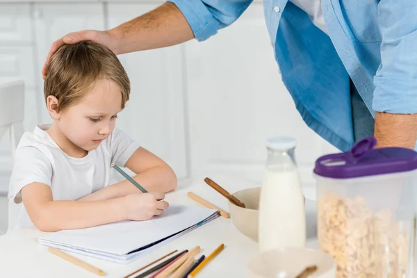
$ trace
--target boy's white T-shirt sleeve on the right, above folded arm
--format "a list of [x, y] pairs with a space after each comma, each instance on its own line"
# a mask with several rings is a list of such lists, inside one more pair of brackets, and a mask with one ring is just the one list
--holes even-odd
[[130, 138], [124, 131], [113, 130], [110, 138], [111, 162], [119, 167], [124, 167], [132, 154], [140, 147], [139, 143]]

